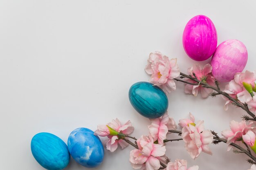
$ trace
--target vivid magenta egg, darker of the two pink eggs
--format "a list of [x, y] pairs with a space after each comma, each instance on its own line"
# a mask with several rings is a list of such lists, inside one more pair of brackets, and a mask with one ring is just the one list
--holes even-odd
[[209, 17], [196, 15], [186, 24], [183, 32], [183, 47], [195, 61], [209, 59], [217, 46], [217, 31]]

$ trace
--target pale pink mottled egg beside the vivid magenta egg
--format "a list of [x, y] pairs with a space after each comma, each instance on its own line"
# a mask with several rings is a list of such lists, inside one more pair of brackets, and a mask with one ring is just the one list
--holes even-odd
[[229, 39], [222, 42], [211, 58], [213, 77], [220, 82], [233, 80], [237, 72], [244, 70], [247, 59], [247, 49], [241, 41]]

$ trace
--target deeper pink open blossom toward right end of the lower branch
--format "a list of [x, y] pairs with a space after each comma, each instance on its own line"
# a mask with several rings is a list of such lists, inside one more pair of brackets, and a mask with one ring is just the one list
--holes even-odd
[[247, 125], [244, 120], [242, 122], [232, 120], [229, 124], [231, 130], [224, 130], [221, 134], [225, 139], [227, 139], [227, 144], [241, 141], [243, 139], [243, 135], [245, 135], [250, 129], [254, 129], [252, 124], [253, 122], [249, 122]]

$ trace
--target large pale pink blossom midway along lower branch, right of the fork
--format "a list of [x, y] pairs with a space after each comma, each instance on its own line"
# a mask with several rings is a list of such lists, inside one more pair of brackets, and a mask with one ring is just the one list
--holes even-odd
[[185, 142], [185, 148], [193, 159], [197, 158], [201, 152], [212, 155], [208, 145], [213, 141], [213, 134], [209, 130], [204, 130], [203, 123], [203, 120], [199, 120], [197, 124], [189, 123], [182, 128], [181, 136]]

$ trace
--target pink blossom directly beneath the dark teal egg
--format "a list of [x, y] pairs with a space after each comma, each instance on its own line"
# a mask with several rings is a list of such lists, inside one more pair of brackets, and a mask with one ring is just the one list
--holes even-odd
[[168, 130], [176, 130], [177, 125], [173, 118], [168, 116], [168, 113], [164, 113], [164, 115], [160, 118], [150, 119], [152, 122], [149, 126], [149, 133], [153, 137], [153, 140], [158, 140], [159, 144], [164, 143], [164, 139], [166, 139], [166, 134]]

